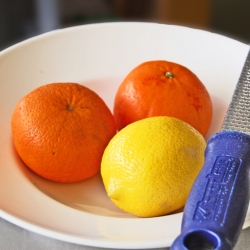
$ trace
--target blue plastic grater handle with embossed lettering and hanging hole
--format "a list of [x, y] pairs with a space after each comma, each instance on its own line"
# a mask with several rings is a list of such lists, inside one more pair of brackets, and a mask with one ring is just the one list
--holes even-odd
[[184, 209], [181, 234], [170, 249], [233, 249], [249, 204], [249, 176], [250, 136], [226, 130], [213, 135]]

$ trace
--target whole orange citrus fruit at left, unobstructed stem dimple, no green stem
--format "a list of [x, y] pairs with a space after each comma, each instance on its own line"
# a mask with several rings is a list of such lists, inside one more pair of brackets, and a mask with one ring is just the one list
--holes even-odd
[[96, 174], [115, 133], [114, 117], [104, 101], [76, 83], [38, 87], [19, 101], [12, 115], [20, 158], [38, 175], [57, 182]]

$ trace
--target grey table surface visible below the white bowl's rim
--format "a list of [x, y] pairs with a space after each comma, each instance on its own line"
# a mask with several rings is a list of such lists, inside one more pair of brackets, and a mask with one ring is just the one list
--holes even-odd
[[[15, 226], [0, 218], [0, 250], [105, 250], [90, 246], [76, 245], [45, 237]], [[169, 248], [157, 248], [158, 250]], [[235, 250], [250, 249], [250, 228], [241, 232]], [[130, 249], [131, 250], [131, 249]], [[152, 249], [151, 249], [152, 250]], [[156, 249], [154, 249], [156, 250]]]

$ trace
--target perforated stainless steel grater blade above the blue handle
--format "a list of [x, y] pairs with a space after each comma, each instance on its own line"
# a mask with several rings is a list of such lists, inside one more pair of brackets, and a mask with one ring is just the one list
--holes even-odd
[[234, 90], [221, 130], [250, 134], [250, 51]]

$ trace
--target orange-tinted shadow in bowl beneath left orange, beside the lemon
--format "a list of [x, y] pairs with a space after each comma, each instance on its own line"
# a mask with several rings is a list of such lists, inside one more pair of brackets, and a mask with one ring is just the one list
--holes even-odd
[[16, 166], [22, 174], [41, 192], [50, 198], [71, 208], [111, 217], [134, 218], [117, 206], [109, 199], [100, 173], [76, 183], [58, 183], [44, 179], [30, 170], [17, 155], [13, 146]]

